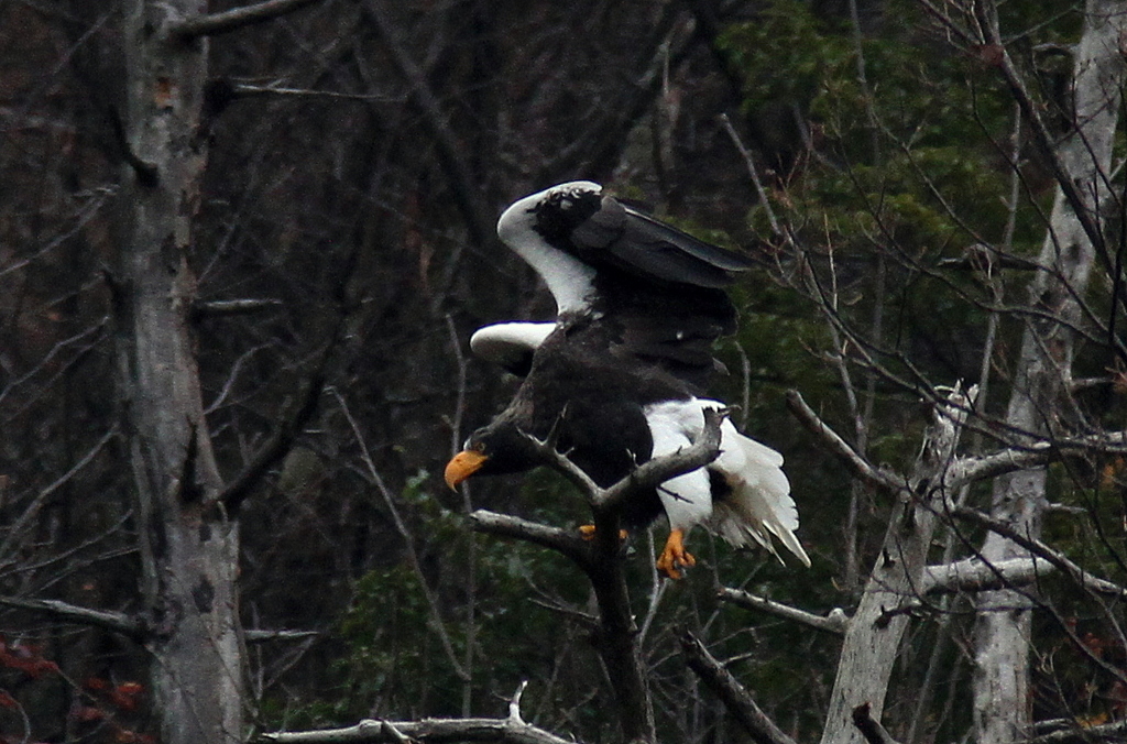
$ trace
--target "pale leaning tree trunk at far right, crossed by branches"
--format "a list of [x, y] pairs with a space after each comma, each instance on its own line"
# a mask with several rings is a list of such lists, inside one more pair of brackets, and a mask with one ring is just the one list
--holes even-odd
[[[1074, 131], [1057, 148], [1063, 170], [1091, 218], [1111, 196], [1111, 147], [1119, 114], [1125, 30], [1122, 0], [1089, 0], [1084, 30], [1075, 50]], [[995, 28], [996, 32], [996, 28]], [[997, 38], [996, 33], [994, 38]], [[1029, 287], [1030, 307], [1046, 312], [1024, 330], [1014, 370], [1006, 423], [1031, 437], [1066, 428], [1074, 334], [1081, 324], [1082, 298], [1097, 250], [1070, 200], [1058, 188], [1037, 273]], [[1017, 532], [1038, 537], [1045, 510], [1045, 469], [1024, 470], [994, 484], [992, 515]], [[1020, 547], [990, 533], [982, 548], [988, 561], [1028, 557]], [[1030, 600], [1021, 592], [985, 592], [977, 597], [975, 632], [974, 724], [978, 744], [1022, 739], [1029, 732]]]

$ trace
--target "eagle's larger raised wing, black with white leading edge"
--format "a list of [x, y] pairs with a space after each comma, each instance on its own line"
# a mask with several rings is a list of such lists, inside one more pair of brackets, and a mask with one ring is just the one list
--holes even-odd
[[497, 233], [548, 284], [558, 322], [597, 336], [609, 354], [657, 366], [695, 389], [722, 369], [711, 347], [736, 327], [722, 287], [751, 267], [745, 257], [624, 205], [591, 181], [518, 200], [502, 214]]

